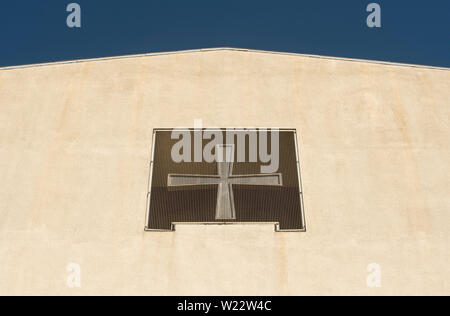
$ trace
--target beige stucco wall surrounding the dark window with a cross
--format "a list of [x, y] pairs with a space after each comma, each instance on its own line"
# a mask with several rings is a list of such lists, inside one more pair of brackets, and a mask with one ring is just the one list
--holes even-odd
[[[449, 295], [449, 99], [449, 70], [232, 50], [0, 70], [0, 294]], [[195, 118], [297, 128], [307, 233], [144, 232], [152, 129]]]

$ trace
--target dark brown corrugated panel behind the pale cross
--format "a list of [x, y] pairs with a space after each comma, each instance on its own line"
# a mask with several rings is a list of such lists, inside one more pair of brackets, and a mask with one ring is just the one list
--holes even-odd
[[[305, 230], [295, 131], [279, 133], [280, 164], [277, 173], [282, 175], [282, 186], [237, 184], [232, 186], [235, 220], [216, 220], [218, 185], [183, 186], [176, 189], [168, 187], [169, 174], [218, 175], [218, 166], [215, 162], [175, 163], [171, 158], [171, 150], [178, 140], [172, 140], [171, 133], [169, 130], [156, 130], [154, 133], [148, 230], [171, 230], [173, 223], [227, 222], [279, 223], [280, 230]], [[270, 136], [268, 139], [270, 149]], [[209, 140], [204, 140], [203, 145], [208, 142]], [[247, 139], [247, 154], [248, 148]], [[235, 162], [233, 175], [260, 174], [262, 165], [266, 164]]]

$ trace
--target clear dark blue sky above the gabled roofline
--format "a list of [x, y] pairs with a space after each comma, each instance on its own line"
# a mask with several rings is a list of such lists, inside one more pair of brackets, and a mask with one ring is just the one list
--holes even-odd
[[0, 66], [229, 46], [450, 67], [449, 17], [449, 0], [2, 0]]

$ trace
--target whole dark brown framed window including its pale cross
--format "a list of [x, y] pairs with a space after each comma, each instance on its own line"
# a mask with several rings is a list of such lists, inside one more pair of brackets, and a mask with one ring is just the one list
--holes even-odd
[[154, 130], [146, 230], [239, 223], [306, 231], [296, 131]]

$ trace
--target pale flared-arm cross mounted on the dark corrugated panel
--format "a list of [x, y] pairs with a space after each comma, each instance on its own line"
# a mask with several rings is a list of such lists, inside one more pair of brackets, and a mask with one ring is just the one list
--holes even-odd
[[168, 187], [218, 185], [216, 220], [235, 220], [233, 184], [282, 186], [281, 173], [233, 175], [234, 145], [216, 146], [218, 175], [169, 174]]

